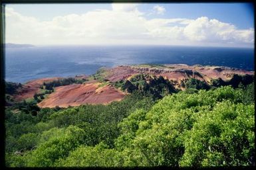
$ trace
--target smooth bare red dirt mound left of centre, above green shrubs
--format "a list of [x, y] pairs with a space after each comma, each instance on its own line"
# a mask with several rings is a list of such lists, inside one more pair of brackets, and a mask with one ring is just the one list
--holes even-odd
[[72, 84], [57, 87], [47, 99], [38, 106], [44, 107], [68, 107], [83, 104], [107, 104], [112, 101], [120, 101], [125, 94], [110, 85], [99, 87], [100, 83]]

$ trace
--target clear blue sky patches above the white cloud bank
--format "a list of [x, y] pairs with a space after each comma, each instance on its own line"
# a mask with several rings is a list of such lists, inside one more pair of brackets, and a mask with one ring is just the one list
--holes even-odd
[[[194, 19], [206, 16], [223, 22], [235, 24], [238, 28], [254, 27], [254, 11], [250, 3], [144, 3], [138, 9], [150, 12], [155, 5], [161, 5], [166, 9], [162, 18], [188, 18]], [[45, 21], [55, 16], [68, 15], [72, 13], [82, 14], [94, 9], [111, 9], [109, 3], [86, 3], [86, 4], [19, 4], [8, 5], [23, 15], [34, 16]], [[154, 18], [154, 15], [148, 16]]]

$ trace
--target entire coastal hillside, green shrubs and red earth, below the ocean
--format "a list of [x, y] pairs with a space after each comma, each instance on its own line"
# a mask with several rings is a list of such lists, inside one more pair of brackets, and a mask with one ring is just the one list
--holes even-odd
[[255, 165], [253, 81], [253, 71], [179, 64], [5, 82], [5, 163]]

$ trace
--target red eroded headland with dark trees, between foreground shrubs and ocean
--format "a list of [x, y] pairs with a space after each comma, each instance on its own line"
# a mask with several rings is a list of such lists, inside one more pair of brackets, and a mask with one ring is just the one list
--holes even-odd
[[[238, 87], [252, 83], [254, 71], [223, 66], [186, 64], [140, 64], [118, 65], [101, 68], [95, 74], [76, 77], [50, 77], [31, 80], [25, 84], [13, 83], [15, 87], [9, 99], [20, 102], [36, 99], [41, 108], [68, 107], [85, 104], [108, 104], [122, 100], [134, 90], [149, 91], [160, 85], [168, 92], [186, 90], [188, 85], [195, 89], [209, 89], [222, 85]], [[158, 91], [162, 91], [159, 90]], [[161, 94], [150, 91], [154, 95]], [[7, 105], [11, 102], [7, 101]]]

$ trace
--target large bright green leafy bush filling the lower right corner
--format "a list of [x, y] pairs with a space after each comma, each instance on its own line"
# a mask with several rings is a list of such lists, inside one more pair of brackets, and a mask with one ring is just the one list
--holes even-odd
[[124, 165], [252, 165], [254, 104], [241, 103], [241, 93], [231, 87], [178, 93], [130, 114], [116, 140]]

